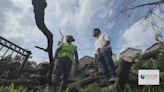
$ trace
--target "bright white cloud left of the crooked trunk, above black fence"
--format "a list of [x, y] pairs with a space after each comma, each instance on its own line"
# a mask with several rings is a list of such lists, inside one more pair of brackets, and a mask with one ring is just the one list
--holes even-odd
[[[46, 39], [36, 27], [31, 1], [2, 0], [1, 2], [2, 5], [5, 4], [5, 6], [0, 5], [2, 7], [0, 15], [3, 15], [1, 16], [3, 23], [0, 23], [1, 36], [25, 49], [29, 49], [32, 51], [32, 59], [37, 63], [42, 62], [42, 59], [47, 58], [47, 55], [44, 54], [45, 52], [35, 49], [34, 46], [44, 46]], [[42, 39], [45, 41], [40, 43], [39, 40]]]

